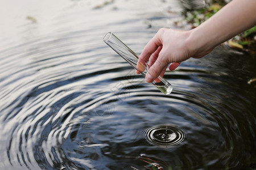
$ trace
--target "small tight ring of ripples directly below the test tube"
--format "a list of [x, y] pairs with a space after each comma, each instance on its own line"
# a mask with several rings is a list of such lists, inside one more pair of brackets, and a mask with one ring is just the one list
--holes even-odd
[[144, 130], [144, 137], [151, 145], [170, 148], [184, 143], [186, 135], [175, 126], [156, 125]]

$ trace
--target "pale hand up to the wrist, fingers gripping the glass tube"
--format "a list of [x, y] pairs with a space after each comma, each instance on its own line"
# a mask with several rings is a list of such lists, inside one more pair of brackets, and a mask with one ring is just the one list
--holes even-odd
[[[163, 76], [169, 63], [169, 69], [175, 70], [182, 61], [190, 57], [200, 58], [208, 52], [198, 53], [195, 45], [190, 45], [191, 31], [161, 28], [147, 43], [139, 56], [137, 69], [144, 71], [148, 65], [146, 82], [150, 83], [159, 75]], [[195, 42], [193, 42], [195, 43]], [[139, 74], [139, 71], [137, 73]]]

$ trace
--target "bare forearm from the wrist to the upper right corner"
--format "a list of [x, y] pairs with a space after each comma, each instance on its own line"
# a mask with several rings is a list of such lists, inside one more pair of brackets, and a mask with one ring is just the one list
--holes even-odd
[[233, 0], [206, 22], [191, 30], [189, 41], [193, 42], [192, 49], [197, 49], [191, 55], [201, 57], [200, 50], [210, 51], [255, 24], [256, 0]]

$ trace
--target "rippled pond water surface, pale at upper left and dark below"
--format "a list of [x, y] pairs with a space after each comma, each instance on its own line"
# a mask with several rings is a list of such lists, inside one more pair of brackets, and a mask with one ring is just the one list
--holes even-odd
[[179, 3], [102, 3], [42, 2], [24, 13], [36, 22], [6, 26], [0, 169], [254, 168], [256, 59], [218, 46], [167, 71], [163, 95], [102, 38], [112, 31], [139, 54], [175, 27]]

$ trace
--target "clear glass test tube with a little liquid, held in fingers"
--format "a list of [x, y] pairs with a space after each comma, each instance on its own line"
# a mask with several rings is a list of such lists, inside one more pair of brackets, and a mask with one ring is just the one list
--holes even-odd
[[[134, 67], [134, 69], [137, 69], [137, 62], [138, 62], [138, 55], [133, 52], [127, 45], [125, 45], [121, 40], [118, 39], [112, 32], [108, 32], [104, 38], [103, 41], [106, 42], [115, 52], [119, 54], [125, 61], [130, 63], [131, 66]], [[145, 63], [146, 69], [139, 73], [141, 73], [144, 77], [147, 74], [148, 65]], [[156, 82], [157, 81], [157, 82]], [[156, 80], [152, 82], [155, 87], [157, 87], [163, 94], [170, 94], [172, 92], [172, 86], [169, 82], [167, 82], [166, 79], [162, 78], [162, 76], [158, 76]]]

